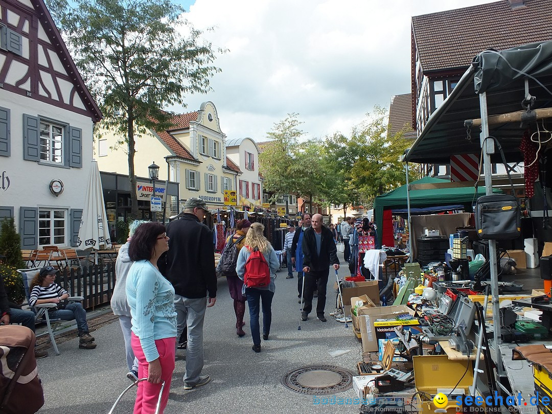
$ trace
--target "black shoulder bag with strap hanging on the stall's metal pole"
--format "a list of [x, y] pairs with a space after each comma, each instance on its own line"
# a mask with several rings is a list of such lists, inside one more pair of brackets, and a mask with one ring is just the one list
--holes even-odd
[[[497, 144], [512, 187], [512, 193], [516, 194], [502, 147], [495, 137], [490, 136], [489, 138], [495, 140]], [[477, 184], [475, 185], [475, 193], [477, 194]], [[477, 199], [475, 204], [475, 227], [477, 235], [484, 240], [512, 240], [518, 238], [521, 234], [521, 207], [517, 197], [508, 194], [491, 194]]]

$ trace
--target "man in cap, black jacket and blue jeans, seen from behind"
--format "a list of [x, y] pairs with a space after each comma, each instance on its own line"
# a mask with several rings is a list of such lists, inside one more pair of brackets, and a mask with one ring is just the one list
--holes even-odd
[[[213, 233], [201, 221], [208, 213], [205, 201], [192, 197], [184, 204], [180, 219], [167, 224], [169, 250], [161, 273], [174, 286], [177, 338], [188, 327], [184, 389], [207, 384], [203, 369], [203, 321], [206, 307], [216, 302]], [[209, 294], [209, 297], [207, 297]]]

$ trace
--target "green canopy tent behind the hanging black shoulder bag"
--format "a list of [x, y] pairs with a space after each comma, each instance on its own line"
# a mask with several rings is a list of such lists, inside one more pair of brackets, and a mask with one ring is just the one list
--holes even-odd
[[[423, 177], [412, 184], [435, 184], [435, 183], [450, 183], [450, 181], [434, 178]], [[381, 246], [381, 238], [383, 236], [383, 211], [386, 209], [404, 209], [406, 203], [407, 185], [392, 190], [389, 193], [378, 195], [374, 200], [374, 222], [378, 226], [378, 240], [376, 245]], [[500, 189], [493, 189], [494, 193], [501, 193]], [[477, 197], [474, 198], [474, 187], [455, 187], [455, 188], [432, 188], [424, 190], [410, 190], [410, 206], [411, 208], [423, 207], [438, 207], [451, 204], [463, 204], [466, 211], [472, 211], [474, 201], [485, 195], [485, 187], [477, 188]]]

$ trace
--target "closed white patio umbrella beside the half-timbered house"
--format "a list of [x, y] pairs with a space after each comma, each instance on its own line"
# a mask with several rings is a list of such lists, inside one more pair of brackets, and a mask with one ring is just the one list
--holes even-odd
[[[100, 178], [98, 163], [95, 160], [92, 160], [88, 177], [77, 243], [82, 250], [92, 249], [95, 252], [112, 248], [107, 215], [105, 214], [102, 178]], [[94, 262], [98, 263], [98, 254], [95, 254]]]

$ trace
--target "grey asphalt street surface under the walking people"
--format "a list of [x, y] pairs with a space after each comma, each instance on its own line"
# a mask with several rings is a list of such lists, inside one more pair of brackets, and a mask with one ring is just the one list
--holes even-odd
[[[342, 253], [338, 253], [342, 256]], [[339, 270], [340, 275], [346, 269]], [[183, 390], [184, 360], [177, 359], [171, 395], [166, 413], [311, 413], [358, 412], [358, 406], [321, 406], [312, 404], [312, 396], [285, 389], [282, 376], [306, 365], [330, 364], [355, 371], [362, 357], [362, 347], [351, 328], [344, 328], [329, 313], [333, 310], [333, 283], [330, 272], [326, 316], [322, 323], [311, 313], [307, 322], [299, 324], [297, 279], [285, 279], [286, 270], [278, 273], [273, 301], [273, 323], [269, 341], [263, 341], [263, 351], [254, 353], [249, 335], [236, 336], [235, 316], [226, 279], [219, 279], [219, 293], [213, 308], [205, 317], [205, 368], [211, 383], [200, 388]], [[316, 299], [315, 299], [316, 300]], [[130, 381], [124, 362], [123, 335], [119, 323], [110, 323], [93, 332], [98, 347], [88, 351], [78, 349], [78, 339], [60, 344], [61, 355], [49, 348], [50, 356], [38, 360], [43, 381], [45, 405], [43, 414], [104, 414]], [[337, 358], [330, 352], [350, 350]], [[180, 351], [179, 351], [180, 352]], [[178, 354], [177, 354], [178, 355]], [[353, 390], [339, 396], [354, 398]], [[132, 391], [125, 395], [116, 413], [132, 412]]]

